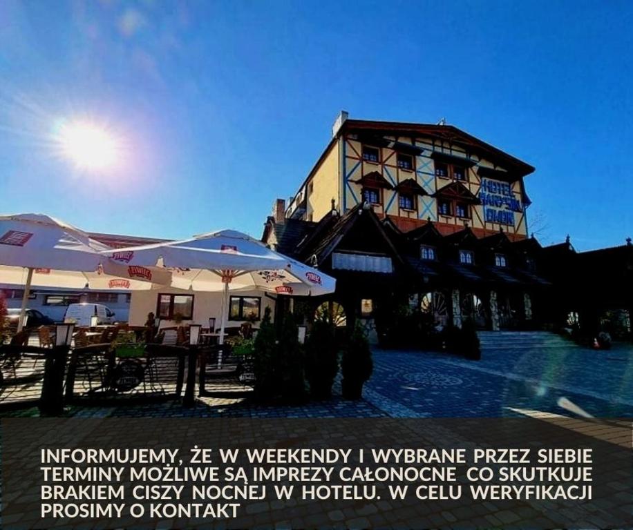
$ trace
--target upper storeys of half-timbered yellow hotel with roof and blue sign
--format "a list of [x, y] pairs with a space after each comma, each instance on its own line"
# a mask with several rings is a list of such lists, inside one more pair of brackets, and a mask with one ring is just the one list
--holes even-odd
[[318, 221], [367, 202], [408, 232], [433, 222], [442, 234], [469, 226], [477, 237], [528, 235], [524, 177], [534, 168], [449, 125], [348, 119], [290, 199], [286, 217]]

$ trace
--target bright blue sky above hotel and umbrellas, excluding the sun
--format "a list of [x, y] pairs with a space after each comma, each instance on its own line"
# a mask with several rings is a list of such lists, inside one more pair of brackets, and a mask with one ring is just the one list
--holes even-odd
[[[446, 117], [536, 166], [542, 242], [633, 236], [633, 3], [0, 3], [0, 211], [86, 230], [261, 235], [341, 109]], [[55, 131], [90, 120], [124, 161], [79, 170]], [[545, 224], [545, 229], [542, 225]]]

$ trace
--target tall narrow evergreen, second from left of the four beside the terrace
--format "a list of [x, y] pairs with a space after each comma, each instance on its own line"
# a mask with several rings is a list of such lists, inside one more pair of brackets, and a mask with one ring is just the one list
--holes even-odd
[[279, 337], [279, 362], [281, 367], [281, 395], [290, 402], [305, 398], [303, 380], [303, 349], [299, 344], [299, 328], [292, 313], [286, 313]]

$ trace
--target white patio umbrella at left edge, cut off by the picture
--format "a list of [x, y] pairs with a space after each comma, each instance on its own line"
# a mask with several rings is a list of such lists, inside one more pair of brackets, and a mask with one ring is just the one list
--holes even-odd
[[126, 266], [104, 255], [108, 246], [48, 215], [0, 215], [0, 282], [23, 284], [18, 331], [31, 286], [99, 289], [169, 284], [169, 271]]

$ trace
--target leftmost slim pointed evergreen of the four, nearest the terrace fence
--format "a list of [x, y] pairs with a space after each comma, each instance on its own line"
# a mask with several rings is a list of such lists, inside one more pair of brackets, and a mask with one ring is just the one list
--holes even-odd
[[267, 307], [254, 342], [254, 391], [258, 400], [270, 400], [279, 390], [279, 357], [276, 341], [275, 328], [270, 322], [270, 307]]

